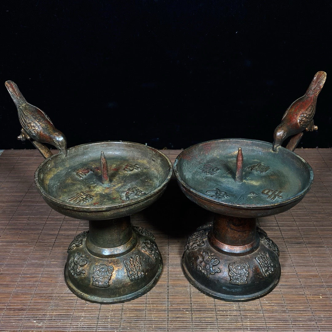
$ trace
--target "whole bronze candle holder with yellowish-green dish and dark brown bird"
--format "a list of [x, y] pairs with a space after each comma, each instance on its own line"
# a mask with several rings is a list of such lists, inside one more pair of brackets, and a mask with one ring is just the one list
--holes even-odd
[[[118, 303], [149, 291], [162, 270], [154, 236], [131, 225], [129, 215], [156, 201], [172, 175], [160, 151], [132, 142], [107, 141], [66, 148], [64, 135], [15, 83], [6, 82], [22, 125], [19, 139], [31, 139], [45, 160], [35, 184], [54, 210], [89, 220], [89, 231], [68, 247], [64, 270], [69, 289], [97, 303]], [[52, 155], [42, 144], [60, 152]]]

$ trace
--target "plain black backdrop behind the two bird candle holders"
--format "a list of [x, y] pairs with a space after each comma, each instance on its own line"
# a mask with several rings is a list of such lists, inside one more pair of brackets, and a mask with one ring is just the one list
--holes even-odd
[[317, 132], [331, 147], [332, 4], [320, 1], [2, 1], [0, 148], [32, 148], [4, 86], [18, 84], [68, 147], [128, 140], [186, 148], [273, 141], [287, 107], [327, 72]]

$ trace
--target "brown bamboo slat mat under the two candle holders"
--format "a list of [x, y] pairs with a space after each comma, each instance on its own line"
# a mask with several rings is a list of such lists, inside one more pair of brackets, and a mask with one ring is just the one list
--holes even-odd
[[[180, 151], [164, 150], [174, 161]], [[182, 274], [188, 234], [211, 220], [174, 179], [163, 197], [132, 216], [153, 232], [164, 261], [157, 285], [120, 304], [77, 298], [66, 286], [67, 247], [88, 221], [53, 211], [33, 175], [36, 150], [0, 156], [0, 331], [332, 331], [332, 151], [296, 151], [312, 166], [313, 186], [287, 212], [258, 219], [280, 249], [282, 275], [268, 295], [243, 303], [210, 298]]]

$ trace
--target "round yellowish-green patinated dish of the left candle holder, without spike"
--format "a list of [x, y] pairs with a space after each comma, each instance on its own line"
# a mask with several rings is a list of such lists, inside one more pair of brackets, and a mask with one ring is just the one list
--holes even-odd
[[[101, 151], [109, 182], [102, 174]], [[168, 158], [156, 149], [98, 142], [69, 148], [67, 156], [47, 158], [36, 170], [35, 183], [47, 204], [60, 213], [101, 220], [130, 215], [153, 203], [165, 190], [171, 171]]]

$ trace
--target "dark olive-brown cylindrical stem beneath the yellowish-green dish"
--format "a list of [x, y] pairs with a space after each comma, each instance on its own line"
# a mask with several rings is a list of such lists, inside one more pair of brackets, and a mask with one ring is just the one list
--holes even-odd
[[130, 217], [90, 220], [87, 249], [98, 257], [114, 257], [124, 254], [137, 242], [132, 231]]

